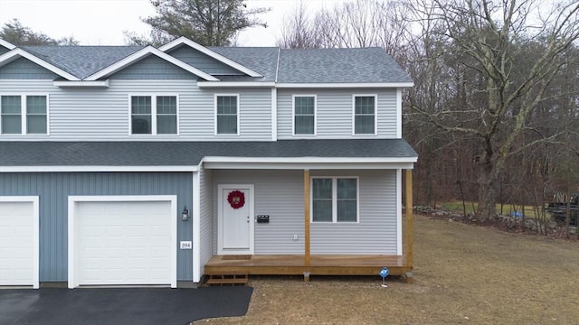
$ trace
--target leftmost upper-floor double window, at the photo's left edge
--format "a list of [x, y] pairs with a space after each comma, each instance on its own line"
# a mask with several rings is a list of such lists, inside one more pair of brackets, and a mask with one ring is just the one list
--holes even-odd
[[44, 95], [0, 96], [0, 134], [47, 135], [47, 97]]

